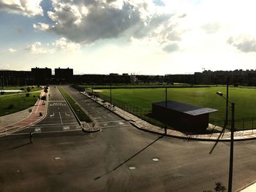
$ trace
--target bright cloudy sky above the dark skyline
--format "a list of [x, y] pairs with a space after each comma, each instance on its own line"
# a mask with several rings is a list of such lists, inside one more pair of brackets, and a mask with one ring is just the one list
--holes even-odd
[[0, 69], [256, 69], [253, 0], [0, 0]]

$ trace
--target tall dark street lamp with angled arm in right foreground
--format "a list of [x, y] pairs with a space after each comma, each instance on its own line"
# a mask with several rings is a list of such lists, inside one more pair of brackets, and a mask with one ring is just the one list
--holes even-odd
[[232, 180], [233, 180], [233, 155], [234, 155], [234, 131], [235, 131], [235, 103], [230, 102], [223, 93], [218, 91], [217, 95], [222, 96], [227, 102], [231, 104], [232, 109], [232, 121], [231, 121], [231, 136], [230, 136], [230, 172], [228, 177], [228, 192], [232, 192]]

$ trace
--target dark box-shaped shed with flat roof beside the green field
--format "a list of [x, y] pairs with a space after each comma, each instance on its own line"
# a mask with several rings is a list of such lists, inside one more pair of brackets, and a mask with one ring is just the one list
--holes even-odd
[[187, 131], [206, 130], [208, 128], [209, 113], [216, 111], [211, 108], [198, 107], [176, 101], [161, 101], [152, 104], [154, 118], [170, 126]]

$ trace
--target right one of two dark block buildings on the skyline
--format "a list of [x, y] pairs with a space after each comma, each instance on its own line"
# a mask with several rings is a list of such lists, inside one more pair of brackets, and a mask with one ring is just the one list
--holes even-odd
[[57, 82], [72, 82], [73, 77], [73, 69], [61, 69], [60, 67], [57, 69], [54, 69], [55, 72], [55, 80]]

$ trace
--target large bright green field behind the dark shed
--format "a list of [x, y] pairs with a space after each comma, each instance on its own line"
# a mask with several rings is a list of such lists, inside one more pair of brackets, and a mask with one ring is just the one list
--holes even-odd
[[[109, 89], [101, 89], [99, 91], [99, 94], [110, 96]], [[216, 94], [217, 91], [222, 91], [226, 94], [224, 86], [211, 88], [167, 88], [167, 99], [217, 109], [219, 110], [218, 112], [210, 115], [210, 122], [217, 122], [219, 126], [222, 126], [225, 120], [226, 101]], [[112, 98], [150, 112], [153, 102], [165, 101], [165, 88], [112, 89]], [[255, 98], [255, 88], [229, 88], [229, 100], [235, 102], [237, 129], [241, 129], [241, 127], [252, 128], [252, 118], [255, 118], [254, 127], [256, 127]], [[243, 118], [245, 118], [245, 123]], [[229, 110], [229, 119], [231, 119], [231, 110]]]

